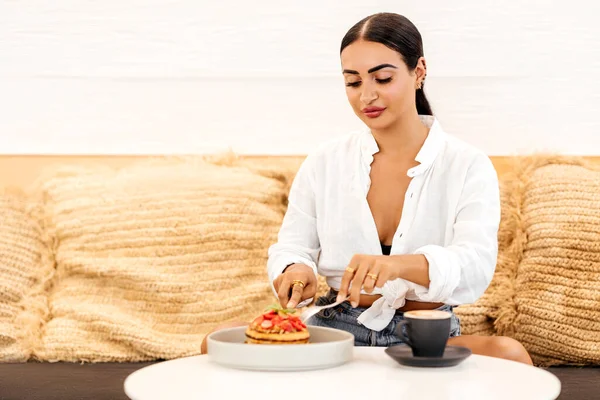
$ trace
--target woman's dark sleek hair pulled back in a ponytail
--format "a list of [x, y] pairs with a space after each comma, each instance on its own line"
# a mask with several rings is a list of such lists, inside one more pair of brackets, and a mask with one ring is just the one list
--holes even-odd
[[[379, 13], [357, 22], [342, 39], [340, 53], [359, 39], [381, 43], [397, 51], [410, 70], [417, 67], [419, 58], [423, 56], [423, 40], [419, 30], [408, 18], [399, 14]], [[420, 115], [433, 115], [423, 87], [416, 92], [416, 104]]]

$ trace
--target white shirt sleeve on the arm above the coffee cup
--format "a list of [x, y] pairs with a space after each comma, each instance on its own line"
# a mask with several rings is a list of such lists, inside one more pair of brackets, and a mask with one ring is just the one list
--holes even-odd
[[429, 288], [415, 290], [421, 301], [460, 305], [483, 295], [496, 268], [500, 212], [498, 175], [490, 159], [480, 155], [467, 171], [451, 244], [415, 251], [429, 262]]

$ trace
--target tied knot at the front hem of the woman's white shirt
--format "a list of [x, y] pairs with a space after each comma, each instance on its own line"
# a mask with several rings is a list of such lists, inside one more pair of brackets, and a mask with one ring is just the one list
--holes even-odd
[[408, 290], [404, 279], [386, 282], [381, 297], [358, 316], [358, 322], [377, 332], [383, 330], [394, 318], [396, 310], [406, 303]]

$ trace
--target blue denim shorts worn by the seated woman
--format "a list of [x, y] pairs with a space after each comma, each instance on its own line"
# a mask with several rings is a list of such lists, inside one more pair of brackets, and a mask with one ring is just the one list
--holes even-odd
[[[315, 305], [324, 306], [335, 303], [336, 297], [337, 293], [330, 290], [325, 296], [319, 297]], [[437, 308], [437, 310], [452, 312], [450, 337], [460, 336], [460, 319], [454, 314], [453, 309], [454, 307], [449, 305]], [[389, 347], [403, 343], [395, 334], [396, 326], [404, 319], [403, 312], [397, 312], [389, 325], [377, 332], [357, 321], [358, 316], [365, 310], [366, 308], [362, 307], [352, 308], [350, 303], [346, 301], [338, 306], [321, 310], [318, 314], [311, 317], [307, 321], [307, 324], [350, 332], [354, 335], [355, 346]]]

